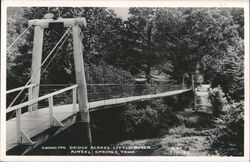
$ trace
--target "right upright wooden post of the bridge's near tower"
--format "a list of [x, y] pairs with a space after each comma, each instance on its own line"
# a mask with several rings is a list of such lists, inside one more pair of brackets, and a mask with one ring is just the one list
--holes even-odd
[[88, 96], [87, 84], [84, 71], [83, 54], [81, 46], [81, 29], [78, 24], [73, 26], [73, 48], [74, 48], [74, 62], [76, 83], [78, 84], [78, 98], [79, 98], [79, 111], [81, 114], [80, 125], [83, 128], [83, 134], [87, 137], [87, 145], [92, 145], [91, 131], [90, 131], [90, 116], [88, 109]]

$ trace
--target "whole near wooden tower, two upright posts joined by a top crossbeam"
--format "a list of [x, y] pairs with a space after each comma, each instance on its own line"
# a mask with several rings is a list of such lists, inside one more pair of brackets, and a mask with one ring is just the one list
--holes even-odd
[[[92, 145], [91, 131], [90, 131], [90, 115], [88, 108], [88, 96], [87, 96], [87, 84], [85, 79], [83, 54], [82, 54], [82, 44], [81, 44], [81, 28], [86, 26], [85, 18], [59, 18], [57, 20], [53, 19], [36, 19], [29, 20], [29, 25], [35, 26], [34, 34], [34, 46], [33, 46], [33, 56], [32, 56], [32, 84], [40, 83], [40, 67], [42, 59], [42, 45], [43, 45], [43, 33], [44, 28], [48, 28], [50, 24], [61, 23], [63, 27], [72, 27], [73, 32], [73, 49], [74, 49], [74, 63], [75, 63], [75, 75], [76, 83], [78, 84], [78, 98], [79, 98], [79, 111], [81, 114], [81, 125], [83, 133], [87, 137], [88, 145]], [[32, 99], [38, 98], [39, 86], [34, 87], [32, 91]], [[74, 110], [76, 107], [76, 95], [74, 98]], [[51, 101], [50, 101], [51, 102]], [[53, 100], [52, 100], [53, 102]], [[33, 110], [37, 109], [37, 105], [33, 106]], [[52, 115], [53, 116], [53, 115]], [[51, 122], [54, 119], [51, 120]], [[60, 125], [60, 123], [57, 123]]]

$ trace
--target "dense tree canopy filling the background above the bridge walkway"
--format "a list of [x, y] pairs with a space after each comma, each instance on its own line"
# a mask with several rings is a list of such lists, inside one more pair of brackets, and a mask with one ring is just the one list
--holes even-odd
[[[53, 13], [56, 18], [59, 16], [59, 11], [55, 7], [49, 9], [32, 7], [19, 10], [21, 12], [19, 17], [25, 20], [42, 18], [47, 12]], [[237, 91], [237, 95], [242, 95], [240, 86], [243, 82], [240, 77], [243, 76], [243, 71], [233, 78], [234, 81], [237, 80], [240, 83], [235, 84], [239, 87], [224, 86], [221, 84], [224, 81], [220, 79], [226, 78], [225, 82], [231, 80], [230, 72], [225, 72], [226, 64], [230, 65], [230, 61], [235, 65], [232, 69], [243, 69], [242, 65], [239, 65], [243, 62], [244, 54], [242, 9], [130, 8], [127, 21], [122, 21], [107, 8], [59, 7], [59, 10], [61, 17], [86, 17], [87, 29], [82, 29], [84, 35], [82, 43], [84, 60], [88, 65], [98, 66], [104, 60], [105, 63], [129, 71], [132, 75], [144, 71], [148, 82], [150, 71], [157, 69], [181, 82], [184, 73], [194, 72], [196, 65], [201, 63], [206, 80], [212, 81], [216, 77], [213, 81], [214, 87], [220, 84], [225, 93], [231, 95]], [[11, 26], [9, 30], [20, 26], [20, 23], [11, 24], [12, 20], [8, 19]], [[25, 25], [27, 24], [24, 23]], [[9, 33], [17, 32], [13, 30]], [[13, 34], [8, 38], [12, 38]], [[44, 57], [54, 46], [52, 42], [59, 39], [55, 31], [46, 31], [45, 36]], [[21, 48], [17, 49], [21, 52], [20, 56], [8, 57], [11, 58], [10, 60], [18, 60], [18, 58], [27, 60], [21, 68], [16, 68], [17, 63], [15, 63], [14, 69], [8, 72], [10, 74], [8, 76], [13, 73], [12, 80], [18, 74], [29, 74], [30, 62], [28, 60], [31, 57], [32, 37], [29, 37], [26, 42], [26, 47], [22, 48], [26, 51], [22, 51]], [[45, 72], [42, 78], [44, 82], [55, 82], [54, 76], [61, 78], [61, 82], [74, 82], [70, 42], [71, 38], [57, 56], [56, 63]], [[232, 58], [235, 54], [237, 58]], [[9, 62], [8, 65], [11, 65], [13, 61]], [[218, 75], [215, 75], [216, 73]], [[28, 78], [27, 75], [26, 78]], [[225, 75], [228, 77], [224, 77]], [[230, 90], [227, 91], [227, 89]]]

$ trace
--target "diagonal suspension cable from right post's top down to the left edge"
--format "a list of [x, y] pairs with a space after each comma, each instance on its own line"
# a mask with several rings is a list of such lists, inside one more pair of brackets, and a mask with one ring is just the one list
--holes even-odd
[[[62, 36], [61, 39], [57, 42], [57, 44], [54, 46], [54, 48], [50, 51], [50, 53], [48, 54], [48, 56], [44, 59], [43, 63], [41, 64], [39, 70], [41, 70], [41, 67], [42, 67], [42, 66], [45, 64], [45, 62], [49, 59], [49, 57], [52, 55], [52, 53], [54, 52], [54, 50], [57, 48], [57, 46], [60, 44], [60, 42], [63, 40], [63, 38], [64, 38], [64, 37], [66, 36], [66, 34], [70, 31], [71, 28], [72, 28], [72, 26], [68, 28], [68, 30], [63, 34], [63, 36]], [[39, 72], [39, 70], [36, 71], [36, 72], [33, 72], [33, 74], [36, 75], [36, 74]], [[28, 80], [28, 82], [25, 84], [25, 86], [27, 86], [27, 85], [31, 82], [31, 79], [32, 79], [32, 76], [31, 76], [31, 78]], [[16, 95], [16, 97], [15, 97], [14, 100], [10, 103], [10, 105], [8, 106], [8, 108], [10, 108], [10, 107], [14, 104], [14, 102], [17, 100], [17, 98], [21, 95], [21, 93], [22, 93], [23, 90], [25, 89], [25, 86], [24, 86], [24, 87], [21, 89], [21, 91]], [[8, 109], [8, 108], [7, 108], [7, 109]]]

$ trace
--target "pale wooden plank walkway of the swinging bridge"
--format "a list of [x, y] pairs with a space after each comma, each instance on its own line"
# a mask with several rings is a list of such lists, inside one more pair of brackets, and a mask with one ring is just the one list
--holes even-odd
[[[125, 104], [128, 102], [150, 100], [152, 98], [166, 97], [171, 95], [177, 95], [184, 92], [190, 91], [190, 89], [185, 90], [175, 90], [159, 94], [143, 95], [143, 96], [132, 96], [125, 98], [115, 98], [108, 100], [101, 100], [95, 102], [89, 102], [90, 111], [95, 111], [98, 109], [106, 108], [107, 106], [114, 106], [119, 104]], [[78, 111], [78, 105], [77, 105]], [[53, 107], [54, 115], [59, 121], [66, 120], [67, 118], [74, 115], [72, 104], [54, 106]], [[49, 119], [49, 108], [38, 109], [33, 112], [26, 112], [22, 114], [22, 130], [30, 137], [31, 139], [42, 132], [51, 128], [50, 119]], [[6, 150], [10, 150], [18, 145], [17, 133], [16, 133], [16, 118], [12, 118], [6, 122]]]

